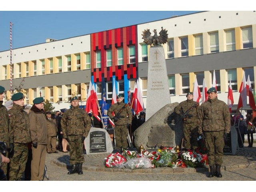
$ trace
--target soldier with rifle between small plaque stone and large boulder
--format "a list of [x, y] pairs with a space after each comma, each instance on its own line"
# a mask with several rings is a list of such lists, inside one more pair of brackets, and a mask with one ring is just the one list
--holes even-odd
[[[130, 128], [132, 124], [132, 111], [129, 106], [126, 106], [123, 99], [123, 95], [119, 94], [117, 96], [117, 103], [110, 106], [107, 112], [108, 116], [112, 118], [115, 123], [116, 147], [119, 152], [122, 152], [123, 149], [125, 150], [128, 147], [128, 128]], [[115, 116], [113, 116], [112, 112], [114, 112]], [[119, 116], [118, 113], [120, 113]]]

